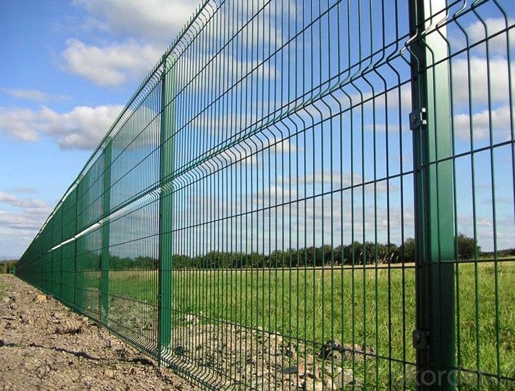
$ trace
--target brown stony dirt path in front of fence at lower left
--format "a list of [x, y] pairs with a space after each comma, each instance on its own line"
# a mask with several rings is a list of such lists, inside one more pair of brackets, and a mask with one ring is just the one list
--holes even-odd
[[199, 390], [105, 328], [0, 275], [2, 390]]

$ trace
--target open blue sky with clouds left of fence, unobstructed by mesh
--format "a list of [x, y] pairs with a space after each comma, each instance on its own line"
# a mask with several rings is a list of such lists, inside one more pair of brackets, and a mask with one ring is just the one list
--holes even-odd
[[0, 3], [0, 258], [21, 255], [196, 6]]

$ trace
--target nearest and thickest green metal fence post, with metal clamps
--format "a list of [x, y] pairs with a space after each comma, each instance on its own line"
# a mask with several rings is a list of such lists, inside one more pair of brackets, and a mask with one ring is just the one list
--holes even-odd
[[454, 390], [454, 209], [450, 74], [444, 0], [410, 1], [417, 243], [417, 349], [419, 390]]

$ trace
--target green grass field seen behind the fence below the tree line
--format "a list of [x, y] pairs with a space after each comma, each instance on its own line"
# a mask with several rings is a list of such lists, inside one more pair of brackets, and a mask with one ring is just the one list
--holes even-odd
[[[155, 272], [111, 273], [110, 293], [155, 304]], [[497, 271], [492, 263], [459, 264], [456, 275], [459, 366], [515, 377], [515, 262], [500, 262]], [[311, 352], [330, 339], [369, 346], [377, 357], [344, 363], [369, 385], [388, 379], [390, 370], [392, 377], [401, 377], [402, 362], [415, 361], [413, 265], [183, 270], [174, 271], [173, 290], [172, 324], [181, 324], [185, 314], [195, 314], [206, 323], [221, 319], [277, 331], [292, 341], [305, 341]], [[464, 377], [476, 381], [472, 374]]]

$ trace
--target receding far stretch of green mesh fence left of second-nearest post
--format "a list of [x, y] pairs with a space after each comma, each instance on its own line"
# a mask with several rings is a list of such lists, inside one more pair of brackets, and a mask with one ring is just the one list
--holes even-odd
[[25, 252], [18, 275], [157, 352], [160, 73], [156, 67]]

